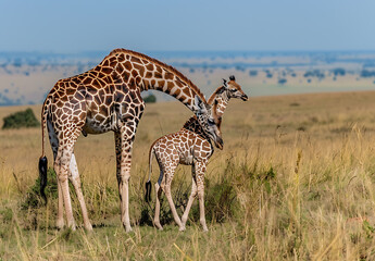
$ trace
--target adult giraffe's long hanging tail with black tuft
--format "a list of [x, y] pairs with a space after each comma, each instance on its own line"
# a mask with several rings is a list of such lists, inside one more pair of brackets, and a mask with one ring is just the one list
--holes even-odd
[[40, 196], [43, 198], [45, 204], [47, 204], [45, 188], [47, 186], [47, 167], [48, 167], [48, 160], [45, 153], [45, 128], [46, 128], [49, 104], [50, 104], [50, 100], [47, 97], [43, 103], [43, 107], [41, 109], [41, 156], [39, 158]]

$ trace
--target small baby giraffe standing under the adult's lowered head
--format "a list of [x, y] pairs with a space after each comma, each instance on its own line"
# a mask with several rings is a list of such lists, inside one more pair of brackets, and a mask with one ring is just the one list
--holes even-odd
[[[248, 96], [243, 94], [241, 87], [236, 83], [235, 76], [230, 76], [228, 83], [225, 79], [223, 80], [224, 85], [218, 87], [208, 100], [209, 104], [213, 104], [213, 111], [217, 114], [217, 121], [214, 124], [216, 124], [218, 129], [222, 123], [222, 115], [226, 109], [226, 105], [228, 104], [229, 99], [240, 98], [243, 101], [248, 100]], [[215, 146], [218, 149], [223, 149], [223, 142], [215, 142]], [[196, 116], [190, 117], [179, 132], [165, 135], [152, 144], [149, 152], [150, 173], [149, 179], [146, 184], [146, 200], [150, 200], [150, 178], [152, 172], [151, 165], [152, 156], [154, 154], [160, 167], [159, 181], [155, 184], [157, 203], [154, 216], [154, 224], [159, 229], [163, 229], [162, 225], [160, 224], [160, 197], [162, 191], [164, 191], [168, 200], [173, 217], [179, 226], [179, 231], [185, 231], [185, 225], [191, 204], [198, 195], [200, 223], [203, 227], [203, 231], [208, 231], [203, 199], [204, 173], [207, 163], [213, 152], [214, 148], [211, 144], [211, 140], [199, 125]], [[178, 164], [191, 165], [192, 174], [191, 194], [182, 220], [179, 220], [171, 196], [171, 183]]]

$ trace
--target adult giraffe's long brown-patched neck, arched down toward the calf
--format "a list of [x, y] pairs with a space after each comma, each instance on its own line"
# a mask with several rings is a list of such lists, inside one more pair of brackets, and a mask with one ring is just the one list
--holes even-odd
[[112, 69], [112, 74], [128, 88], [140, 91], [154, 89], [163, 91], [183, 102], [191, 111], [195, 110], [195, 97], [198, 95], [205, 101], [203, 94], [185, 75], [145, 54], [125, 50], [113, 50], [101, 64]]

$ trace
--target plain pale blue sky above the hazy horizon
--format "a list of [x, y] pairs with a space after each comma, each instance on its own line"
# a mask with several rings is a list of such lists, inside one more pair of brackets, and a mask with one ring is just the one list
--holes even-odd
[[0, 51], [375, 50], [373, 0], [0, 0]]

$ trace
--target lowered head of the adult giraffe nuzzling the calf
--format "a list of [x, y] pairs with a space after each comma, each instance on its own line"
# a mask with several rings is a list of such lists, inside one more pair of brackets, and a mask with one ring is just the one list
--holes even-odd
[[218, 149], [223, 149], [224, 142], [220, 129], [222, 117], [216, 113], [217, 101], [211, 107], [196, 96], [195, 105], [195, 113], [204, 133], [215, 142]]

